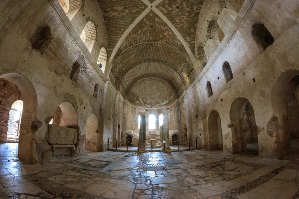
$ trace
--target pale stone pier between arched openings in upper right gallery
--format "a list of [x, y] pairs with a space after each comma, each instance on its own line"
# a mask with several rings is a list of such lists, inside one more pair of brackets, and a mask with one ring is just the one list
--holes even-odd
[[223, 31], [224, 35], [228, 32], [230, 27], [233, 25], [236, 20], [238, 13], [235, 10], [223, 8], [219, 14], [217, 23]]

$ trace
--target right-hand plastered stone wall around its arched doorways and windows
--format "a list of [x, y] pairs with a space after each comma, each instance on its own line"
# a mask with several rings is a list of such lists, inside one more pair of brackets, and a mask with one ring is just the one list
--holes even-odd
[[[232, 102], [242, 97], [252, 104], [257, 128], [259, 129], [259, 154], [263, 157], [278, 157], [284, 151], [287, 136], [283, 129], [286, 117], [278, 118], [279, 132], [276, 135], [267, 134], [268, 122], [276, 115], [273, 106], [272, 92], [278, 78], [288, 70], [299, 69], [297, 52], [299, 51], [299, 32], [297, 20], [298, 2], [251, 1], [247, 0], [241, 9], [233, 27], [227, 32], [211, 56], [207, 66], [187, 90], [186, 95], [180, 98], [182, 126], [185, 123], [188, 136], [194, 143], [195, 135], [204, 135], [204, 145], [207, 148], [208, 115], [215, 109], [221, 117], [223, 130], [223, 150], [233, 152], [236, 140], [232, 134], [234, 123], [231, 123], [230, 112]], [[209, 10], [209, 15], [216, 12], [215, 3], [206, 1], [202, 10]], [[215, 10], [215, 11], [213, 11]], [[201, 12], [204, 15], [206, 12]], [[279, 20], [277, 14], [280, 15]], [[206, 17], [208, 18], [208, 17]], [[202, 18], [200, 20], [205, 20]], [[204, 32], [204, 23], [200, 22], [197, 41], [201, 41]], [[257, 21], [265, 24], [275, 38], [275, 42], [265, 51], [261, 50], [251, 35], [251, 27]], [[201, 30], [202, 29], [202, 30]], [[201, 35], [201, 36], [200, 36]], [[233, 80], [226, 83], [222, 66], [228, 62], [233, 73]], [[206, 84], [211, 82], [213, 95], [208, 97]], [[290, 80], [289, 80], [290, 81]], [[283, 95], [281, 93], [280, 95]], [[242, 110], [243, 111], [243, 110]], [[273, 121], [272, 121], [273, 123]], [[275, 123], [275, 122], [274, 122]], [[203, 139], [203, 137], [201, 137]]]

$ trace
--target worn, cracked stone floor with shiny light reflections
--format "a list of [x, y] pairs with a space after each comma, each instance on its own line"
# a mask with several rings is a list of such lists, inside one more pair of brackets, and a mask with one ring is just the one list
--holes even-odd
[[0, 143], [1, 199], [297, 199], [299, 160], [193, 150], [88, 152], [24, 165]]

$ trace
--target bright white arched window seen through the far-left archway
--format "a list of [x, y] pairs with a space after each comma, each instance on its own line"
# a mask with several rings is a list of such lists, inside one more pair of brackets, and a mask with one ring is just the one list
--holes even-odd
[[19, 136], [21, 117], [23, 111], [23, 101], [17, 100], [13, 102], [9, 111], [7, 134]]

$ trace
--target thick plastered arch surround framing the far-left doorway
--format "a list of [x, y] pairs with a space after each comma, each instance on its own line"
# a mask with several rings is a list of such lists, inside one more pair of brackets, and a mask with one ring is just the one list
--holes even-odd
[[24, 162], [36, 163], [38, 158], [33, 133], [37, 131], [41, 124], [36, 118], [37, 95], [34, 86], [26, 77], [16, 73], [3, 74], [0, 79], [15, 84], [23, 100], [18, 157]]

